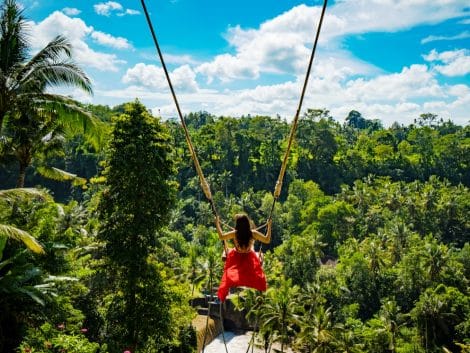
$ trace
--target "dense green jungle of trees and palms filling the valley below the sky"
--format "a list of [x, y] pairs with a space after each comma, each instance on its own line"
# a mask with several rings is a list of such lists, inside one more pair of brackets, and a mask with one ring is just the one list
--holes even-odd
[[[29, 55], [22, 16], [4, 1], [0, 352], [195, 352], [190, 302], [220, 279], [222, 244], [180, 123], [48, 93], [92, 87], [66, 38]], [[289, 122], [185, 119], [224, 220], [265, 222]], [[269, 288], [237, 305], [281, 350], [470, 352], [469, 187], [470, 125], [306, 109]]]

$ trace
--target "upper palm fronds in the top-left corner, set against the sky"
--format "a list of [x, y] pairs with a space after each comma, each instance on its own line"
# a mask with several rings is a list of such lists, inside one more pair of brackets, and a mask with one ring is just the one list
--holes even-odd
[[[92, 93], [90, 79], [72, 60], [71, 44], [57, 36], [31, 59], [27, 24], [16, 0], [5, 0], [0, 14], [0, 133], [5, 119], [14, 119], [24, 103], [49, 109], [72, 108], [70, 100], [47, 93], [50, 87], [67, 85]], [[52, 107], [54, 105], [54, 107]], [[81, 119], [90, 116], [75, 109]]]

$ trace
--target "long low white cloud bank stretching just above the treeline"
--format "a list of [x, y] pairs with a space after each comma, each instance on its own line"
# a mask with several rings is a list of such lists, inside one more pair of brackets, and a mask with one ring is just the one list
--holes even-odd
[[[165, 118], [176, 117], [162, 70], [155, 67], [159, 70], [155, 74], [158, 81], [155, 81], [153, 75], [148, 78], [141, 76], [149, 73], [148, 67], [141, 69], [139, 75], [138, 70], [132, 74], [128, 72], [127, 80], [131, 86], [122, 90], [96, 92], [96, 95], [119, 97], [121, 101], [138, 97], [154, 107], [155, 113], [159, 109]], [[199, 88], [197, 91], [183, 91], [178, 87], [176, 91], [183, 113], [206, 110], [215, 115], [229, 116], [279, 114], [290, 121], [295, 114], [302, 84], [303, 79], [298, 78], [281, 84], [240, 90]], [[381, 119], [385, 126], [395, 121], [409, 124], [420, 114], [432, 112], [457, 124], [467, 124], [469, 106], [470, 88], [467, 85], [441, 86], [432, 71], [426, 70], [424, 65], [413, 65], [400, 73], [369, 80], [342, 81], [339, 78], [313, 77], [305, 95], [303, 111], [307, 108], [326, 108], [335, 119], [343, 122], [349, 111], [355, 109], [367, 119]]]

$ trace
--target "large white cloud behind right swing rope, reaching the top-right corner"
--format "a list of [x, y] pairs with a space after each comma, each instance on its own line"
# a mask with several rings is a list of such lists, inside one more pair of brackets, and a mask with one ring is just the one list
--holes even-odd
[[[339, 67], [340, 71], [370, 74], [376, 68], [358, 62], [340, 49], [344, 36], [438, 23], [462, 16], [465, 8], [462, 0], [342, 0], [327, 10], [320, 36], [321, 50], [328, 50], [331, 59], [343, 62], [345, 67]], [[207, 76], [209, 83], [215, 79], [222, 82], [258, 79], [262, 73], [302, 75], [320, 12], [319, 6], [302, 4], [258, 28], [230, 27], [225, 37], [234, 49], [233, 54], [220, 54], [197, 67], [196, 72]], [[317, 62], [316, 67], [321, 71], [322, 63]]]

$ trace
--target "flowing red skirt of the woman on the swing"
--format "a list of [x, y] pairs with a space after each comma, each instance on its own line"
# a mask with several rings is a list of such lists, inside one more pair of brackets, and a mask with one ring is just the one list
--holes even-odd
[[236, 249], [231, 249], [229, 251], [225, 260], [224, 274], [217, 291], [219, 299], [224, 301], [230, 288], [233, 287], [266, 290], [266, 276], [254, 250], [239, 252]]

